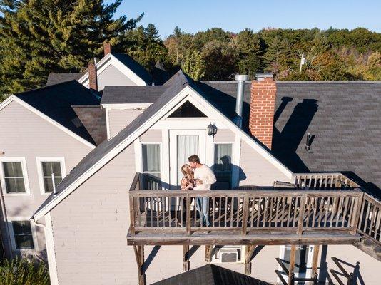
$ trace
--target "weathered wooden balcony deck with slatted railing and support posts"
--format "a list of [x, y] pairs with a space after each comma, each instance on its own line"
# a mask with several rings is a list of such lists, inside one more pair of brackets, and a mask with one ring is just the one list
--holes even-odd
[[[203, 198], [208, 201], [208, 225], [201, 222], [196, 207]], [[161, 190], [156, 177], [136, 174], [129, 205], [127, 244], [136, 254], [139, 284], [145, 284], [145, 245], [182, 245], [184, 271], [189, 270], [190, 245], [205, 245], [205, 261], [210, 261], [215, 245], [245, 245], [245, 274], [251, 272], [259, 245], [290, 244], [290, 264], [295, 263], [298, 244], [358, 244], [371, 239], [381, 245], [380, 201], [340, 173], [295, 175], [295, 184], [223, 191]], [[315, 247], [314, 276], [318, 253]], [[289, 284], [292, 276], [293, 265]]]

